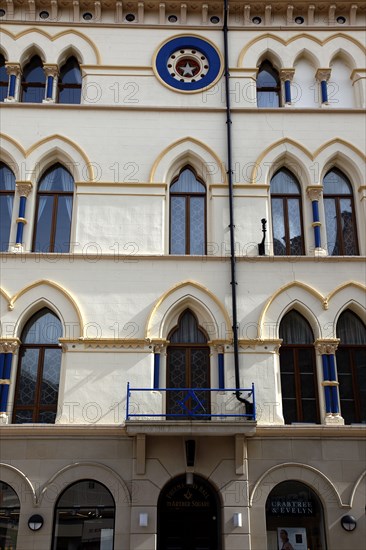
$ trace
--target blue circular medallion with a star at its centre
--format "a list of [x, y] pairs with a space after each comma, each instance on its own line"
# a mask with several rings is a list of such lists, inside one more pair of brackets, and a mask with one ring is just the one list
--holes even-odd
[[219, 76], [221, 59], [217, 50], [196, 36], [179, 36], [164, 44], [155, 59], [159, 77], [182, 92], [210, 86]]

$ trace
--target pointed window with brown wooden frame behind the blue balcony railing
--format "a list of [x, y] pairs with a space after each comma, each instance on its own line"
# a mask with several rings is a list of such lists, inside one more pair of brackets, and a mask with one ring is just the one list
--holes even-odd
[[[199, 326], [194, 313], [186, 309], [177, 326], [168, 335], [167, 415], [172, 419], [194, 419], [195, 415], [210, 415], [210, 348], [208, 337]], [[184, 389], [193, 389], [192, 392]]]

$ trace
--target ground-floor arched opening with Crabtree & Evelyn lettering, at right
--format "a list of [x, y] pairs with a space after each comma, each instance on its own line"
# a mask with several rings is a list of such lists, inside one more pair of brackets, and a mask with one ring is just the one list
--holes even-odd
[[326, 550], [323, 506], [304, 483], [284, 481], [272, 489], [266, 502], [267, 548]]

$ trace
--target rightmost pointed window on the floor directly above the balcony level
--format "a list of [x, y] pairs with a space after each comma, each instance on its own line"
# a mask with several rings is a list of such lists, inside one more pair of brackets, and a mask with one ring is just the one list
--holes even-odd
[[338, 168], [332, 168], [324, 176], [323, 196], [328, 254], [358, 255], [352, 185]]

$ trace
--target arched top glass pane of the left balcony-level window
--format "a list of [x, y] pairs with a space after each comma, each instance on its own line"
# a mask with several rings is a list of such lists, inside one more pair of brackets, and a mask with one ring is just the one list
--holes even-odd
[[23, 344], [58, 344], [61, 336], [60, 320], [52, 311], [43, 308], [25, 325], [21, 339]]

